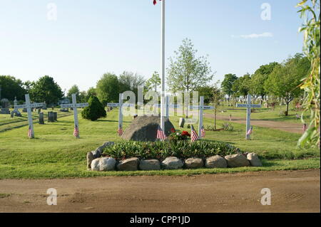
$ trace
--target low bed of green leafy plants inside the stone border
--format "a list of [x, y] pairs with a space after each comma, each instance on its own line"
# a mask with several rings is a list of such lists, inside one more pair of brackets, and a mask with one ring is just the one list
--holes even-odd
[[213, 155], [225, 156], [240, 153], [240, 149], [224, 142], [208, 142], [200, 140], [190, 142], [185, 140], [166, 142], [118, 142], [104, 149], [103, 154], [115, 159], [158, 159], [175, 156], [180, 159], [198, 157], [205, 159]]

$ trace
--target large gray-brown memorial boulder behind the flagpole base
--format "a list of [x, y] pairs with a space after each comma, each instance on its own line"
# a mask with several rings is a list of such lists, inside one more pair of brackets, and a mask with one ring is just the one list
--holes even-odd
[[[133, 141], [156, 141], [157, 128], [161, 122], [159, 116], [138, 116], [131, 125], [126, 128], [121, 138]], [[170, 130], [174, 128], [173, 124], [165, 119], [165, 134], [168, 136]]]

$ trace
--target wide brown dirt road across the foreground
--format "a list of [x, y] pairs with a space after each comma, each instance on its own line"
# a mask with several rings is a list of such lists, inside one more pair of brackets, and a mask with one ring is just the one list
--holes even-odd
[[[49, 188], [57, 206], [46, 204]], [[271, 205], [260, 204], [261, 189]], [[0, 212], [320, 212], [320, 169], [0, 180]]]

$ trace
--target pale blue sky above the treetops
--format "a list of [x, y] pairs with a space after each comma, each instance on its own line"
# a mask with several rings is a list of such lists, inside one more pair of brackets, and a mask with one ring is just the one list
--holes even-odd
[[[302, 51], [297, 2], [167, 0], [166, 65], [183, 38], [208, 55], [214, 80], [281, 62]], [[50, 3], [56, 21], [48, 19]], [[270, 20], [261, 19], [263, 3]], [[152, 0], [0, 0], [0, 75], [51, 75], [67, 90], [87, 90], [106, 72], [149, 78], [160, 68], [160, 35], [161, 4]]]

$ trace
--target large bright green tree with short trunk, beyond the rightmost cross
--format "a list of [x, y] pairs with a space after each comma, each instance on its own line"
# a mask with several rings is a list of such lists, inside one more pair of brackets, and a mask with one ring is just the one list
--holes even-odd
[[285, 100], [287, 105], [285, 115], [289, 113], [290, 102], [302, 94], [298, 86], [302, 78], [307, 75], [309, 68], [309, 60], [297, 53], [294, 57], [288, 58], [285, 63], [275, 66], [265, 81], [267, 93], [277, 95]]

